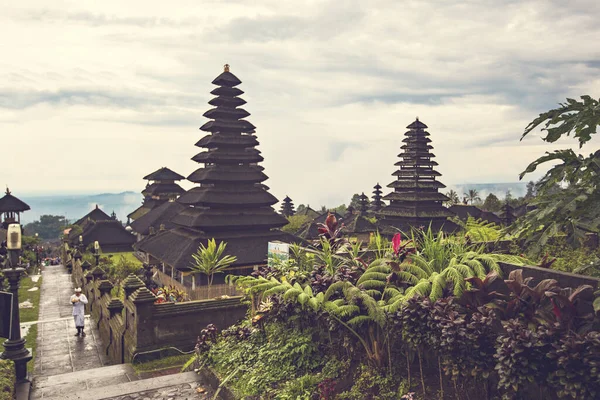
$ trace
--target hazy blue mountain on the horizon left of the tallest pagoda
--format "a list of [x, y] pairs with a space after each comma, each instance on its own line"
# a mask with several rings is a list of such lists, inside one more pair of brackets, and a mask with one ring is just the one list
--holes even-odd
[[41, 215], [64, 215], [74, 222], [90, 212], [96, 204], [107, 214], [113, 211], [121, 221], [127, 221], [127, 214], [142, 204], [142, 195], [136, 192], [103, 193], [70, 196], [21, 196], [29, 204], [30, 211], [21, 215], [24, 224], [38, 220]]

